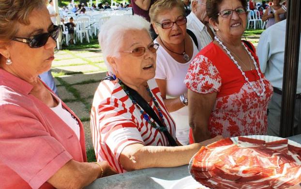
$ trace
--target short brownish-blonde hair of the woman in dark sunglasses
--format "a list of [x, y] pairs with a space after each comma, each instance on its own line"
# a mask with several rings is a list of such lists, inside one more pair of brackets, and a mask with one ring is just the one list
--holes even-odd
[[29, 25], [34, 9], [45, 6], [45, 0], [0, 0], [0, 42], [12, 40], [18, 31], [17, 24]]

